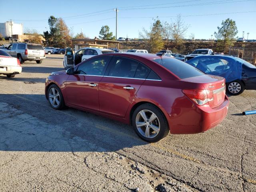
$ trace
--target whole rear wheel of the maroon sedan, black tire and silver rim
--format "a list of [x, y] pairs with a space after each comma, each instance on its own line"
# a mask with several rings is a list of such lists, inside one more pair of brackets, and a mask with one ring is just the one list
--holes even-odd
[[163, 112], [153, 104], [142, 104], [132, 114], [132, 126], [136, 134], [147, 142], [158, 142], [169, 133]]

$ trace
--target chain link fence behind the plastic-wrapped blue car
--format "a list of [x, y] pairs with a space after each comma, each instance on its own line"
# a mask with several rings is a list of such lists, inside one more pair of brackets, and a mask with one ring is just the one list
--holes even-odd
[[229, 55], [236, 56], [255, 65], [256, 48], [231, 47]]

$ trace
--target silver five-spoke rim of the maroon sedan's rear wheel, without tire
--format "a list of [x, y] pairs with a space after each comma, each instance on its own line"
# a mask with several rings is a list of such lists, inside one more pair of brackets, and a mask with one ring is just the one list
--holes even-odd
[[156, 114], [150, 110], [142, 110], [136, 116], [138, 132], [146, 138], [154, 138], [160, 131], [160, 123]]

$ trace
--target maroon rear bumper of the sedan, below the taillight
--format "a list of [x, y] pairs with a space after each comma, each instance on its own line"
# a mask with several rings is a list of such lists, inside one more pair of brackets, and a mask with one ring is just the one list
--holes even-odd
[[171, 134], [196, 134], [209, 130], [220, 124], [228, 114], [228, 97], [224, 102], [212, 109], [210, 106], [192, 108], [164, 108], [168, 113], [168, 124]]

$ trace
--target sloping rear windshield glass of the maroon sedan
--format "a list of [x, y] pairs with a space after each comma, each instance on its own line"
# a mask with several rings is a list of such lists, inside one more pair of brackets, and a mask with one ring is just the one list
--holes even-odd
[[154, 59], [153, 61], [164, 66], [181, 79], [204, 75], [202, 71], [178, 59], [162, 58]]

